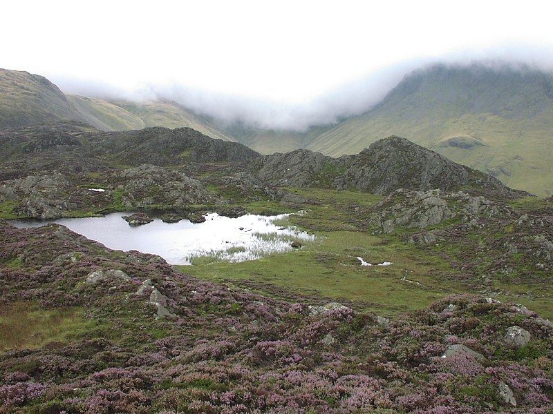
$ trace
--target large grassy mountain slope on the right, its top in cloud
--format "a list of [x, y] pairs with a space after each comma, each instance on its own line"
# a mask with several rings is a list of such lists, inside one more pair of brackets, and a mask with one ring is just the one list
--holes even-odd
[[536, 70], [435, 66], [413, 72], [375, 108], [323, 132], [308, 148], [355, 153], [404, 135], [512, 188], [553, 188], [553, 77]]

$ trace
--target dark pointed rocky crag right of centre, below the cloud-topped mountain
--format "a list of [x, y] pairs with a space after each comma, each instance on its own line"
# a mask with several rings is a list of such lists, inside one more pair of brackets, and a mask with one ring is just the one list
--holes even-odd
[[467, 188], [507, 197], [525, 194], [401, 137], [381, 139], [358, 155], [338, 159], [308, 150], [268, 155], [256, 159], [252, 169], [277, 186], [355, 188], [382, 195], [398, 188], [444, 191]]

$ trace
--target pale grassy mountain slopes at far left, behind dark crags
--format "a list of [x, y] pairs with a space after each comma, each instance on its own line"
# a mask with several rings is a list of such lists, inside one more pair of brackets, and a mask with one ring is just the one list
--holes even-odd
[[171, 101], [108, 101], [64, 95], [45, 77], [0, 69], [0, 128], [78, 121], [103, 131], [149, 126], [193, 128], [210, 137], [234, 141], [190, 110]]

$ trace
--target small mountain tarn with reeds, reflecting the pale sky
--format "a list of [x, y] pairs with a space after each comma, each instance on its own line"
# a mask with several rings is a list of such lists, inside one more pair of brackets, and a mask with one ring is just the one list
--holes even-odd
[[50, 223], [66, 226], [115, 250], [138, 250], [160, 255], [170, 264], [191, 264], [203, 257], [217, 262], [244, 262], [272, 253], [292, 250], [292, 240], [313, 240], [314, 235], [293, 226], [281, 227], [275, 221], [289, 214], [261, 216], [243, 215], [229, 218], [217, 213], [205, 215], [205, 222], [194, 224], [187, 219], [164, 223], [154, 219], [144, 226], [132, 227], [122, 216], [131, 213], [111, 213], [105, 217], [56, 219], [44, 221], [10, 220], [19, 228], [38, 227]]

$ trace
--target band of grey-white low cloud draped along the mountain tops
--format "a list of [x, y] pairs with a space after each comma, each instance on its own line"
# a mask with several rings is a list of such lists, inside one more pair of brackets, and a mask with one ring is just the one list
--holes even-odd
[[[180, 83], [142, 83], [124, 90], [102, 81], [50, 77], [66, 93], [104, 99], [144, 101], [167, 99], [207, 115], [224, 124], [236, 121], [254, 128], [303, 131], [310, 126], [334, 124], [339, 119], [359, 115], [375, 106], [409, 72], [436, 63], [469, 66], [483, 64], [501, 68], [535, 68], [553, 71], [553, 53], [540, 46], [496, 46], [491, 50], [459, 50], [441, 57], [404, 61], [368, 73], [319, 97], [305, 102], [285, 102], [239, 95], [206, 92]], [[48, 77], [48, 75], [46, 74]]]

